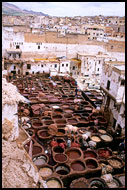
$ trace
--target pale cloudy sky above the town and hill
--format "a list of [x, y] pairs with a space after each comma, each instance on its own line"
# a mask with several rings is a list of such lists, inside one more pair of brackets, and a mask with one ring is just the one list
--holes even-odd
[[9, 2], [50, 16], [125, 16], [125, 2]]

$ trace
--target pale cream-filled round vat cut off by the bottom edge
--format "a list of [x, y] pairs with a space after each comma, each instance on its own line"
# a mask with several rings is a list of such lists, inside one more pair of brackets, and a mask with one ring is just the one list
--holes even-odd
[[56, 177], [52, 177], [46, 180], [46, 185], [48, 188], [62, 188], [63, 187], [61, 180]]

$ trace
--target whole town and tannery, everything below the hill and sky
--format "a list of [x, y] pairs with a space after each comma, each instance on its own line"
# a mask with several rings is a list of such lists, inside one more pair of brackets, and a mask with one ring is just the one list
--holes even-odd
[[2, 188], [125, 188], [125, 17], [2, 15]]

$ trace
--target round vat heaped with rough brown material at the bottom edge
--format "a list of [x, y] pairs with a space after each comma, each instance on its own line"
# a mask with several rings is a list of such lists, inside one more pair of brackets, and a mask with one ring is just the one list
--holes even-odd
[[88, 184], [85, 178], [81, 177], [71, 182], [70, 188], [88, 188]]

